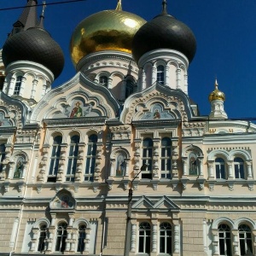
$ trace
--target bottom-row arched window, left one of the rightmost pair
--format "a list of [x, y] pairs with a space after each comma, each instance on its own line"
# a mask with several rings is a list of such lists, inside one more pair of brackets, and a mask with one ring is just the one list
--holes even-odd
[[231, 232], [227, 224], [218, 225], [219, 255], [231, 255]]

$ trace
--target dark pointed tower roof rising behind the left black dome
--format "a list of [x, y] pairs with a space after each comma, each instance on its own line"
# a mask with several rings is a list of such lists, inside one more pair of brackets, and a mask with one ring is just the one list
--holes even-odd
[[11, 35], [23, 30], [27, 30], [30, 27], [37, 26], [37, 5], [38, 0], [27, 0], [26, 7], [23, 9], [19, 20], [17, 20], [13, 25], [14, 29], [11, 32]]

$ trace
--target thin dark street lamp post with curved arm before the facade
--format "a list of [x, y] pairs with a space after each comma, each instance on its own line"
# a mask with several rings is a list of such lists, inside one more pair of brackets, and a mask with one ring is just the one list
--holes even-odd
[[130, 189], [128, 193], [128, 207], [127, 207], [127, 219], [126, 219], [126, 230], [125, 230], [125, 256], [129, 256], [130, 253], [130, 241], [131, 241], [131, 203], [132, 203], [132, 183], [137, 178], [137, 176], [147, 170], [147, 167], [149, 165], [147, 163], [143, 164], [143, 166], [140, 169], [140, 172], [137, 173], [137, 175], [131, 180], [130, 183]]

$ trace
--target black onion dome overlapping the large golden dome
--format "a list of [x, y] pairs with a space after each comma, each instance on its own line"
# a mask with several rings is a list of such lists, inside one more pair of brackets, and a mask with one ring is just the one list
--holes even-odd
[[189, 26], [165, 13], [148, 21], [135, 34], [132, 55], [138, 62], [141, 56], [154, 49], [176, 49], [191, 62], [195, 55], [195, 36]]

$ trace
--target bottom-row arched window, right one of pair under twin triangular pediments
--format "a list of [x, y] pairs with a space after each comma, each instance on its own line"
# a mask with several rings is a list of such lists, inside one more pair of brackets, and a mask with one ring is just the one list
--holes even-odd
[[172, 254], [172, 225], [160, 224], [160, 253]]

